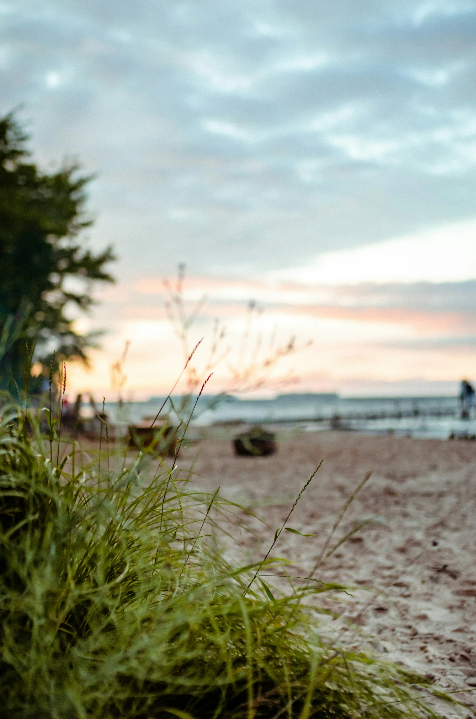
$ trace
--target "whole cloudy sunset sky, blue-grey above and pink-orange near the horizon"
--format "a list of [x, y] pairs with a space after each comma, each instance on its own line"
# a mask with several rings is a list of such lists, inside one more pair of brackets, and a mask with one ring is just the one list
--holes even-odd
[[[119, 258], [71, 390], [109, 395], [127, 341], [130, 396], [204, 336], [201, 377], [215, 318], [210, 391], [271, 357], [260, 391], [476, 378], [475, 70], [476, 0], [0, 0], [0, 111], [43, 167], [94, 173], [88, 243]], [[207, 298], [188, 349], [179, 262], [186, 313]]]

